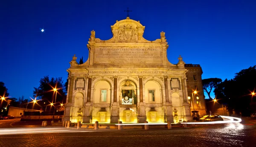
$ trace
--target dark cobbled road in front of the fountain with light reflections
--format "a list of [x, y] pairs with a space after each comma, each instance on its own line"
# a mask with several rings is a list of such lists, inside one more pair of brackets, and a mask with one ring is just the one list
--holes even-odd
[[[17, 129], [16, 133], [22, 131], [13, 129]], [[20, 129], [36, 130], [32, 127]], [[236, 124], [171, 130], [56, 129], [67, 131], [1, 135], [0, 147], [256, 147], [256, 119], [250, 118]]]

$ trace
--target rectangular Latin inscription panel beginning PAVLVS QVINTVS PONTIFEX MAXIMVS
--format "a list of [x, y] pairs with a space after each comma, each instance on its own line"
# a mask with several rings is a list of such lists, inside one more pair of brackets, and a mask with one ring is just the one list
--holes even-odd
[[162, 64], [160, 47], [96, 47], [95, 64]]

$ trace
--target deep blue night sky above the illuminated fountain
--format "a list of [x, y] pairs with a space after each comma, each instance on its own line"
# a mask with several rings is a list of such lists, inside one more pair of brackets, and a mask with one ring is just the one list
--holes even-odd
[[169, 61], [200, 64], [203, 79], [256, 65], [256, 0], [0, 0], [0, 81], [9, 96], [29, 99], [47, 75], [65, 82], [73, 55], [87, 60], [90, 31], [110, 39], [127, 7], [145, 39], [166, 32]]

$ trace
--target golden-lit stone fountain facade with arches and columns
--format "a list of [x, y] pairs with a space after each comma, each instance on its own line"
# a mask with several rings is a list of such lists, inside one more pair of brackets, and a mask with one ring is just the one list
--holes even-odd
[[110, 40], [96, 38], [87, 44], [89, 57], [79, 65], [70, 62], [64, 120], [82, 123], [174, 122], [192, 120], [187, 99], [185, 63], [168, 61], [165, 32], [160, 39], [143, 38], [140, 21], [116, 21]]

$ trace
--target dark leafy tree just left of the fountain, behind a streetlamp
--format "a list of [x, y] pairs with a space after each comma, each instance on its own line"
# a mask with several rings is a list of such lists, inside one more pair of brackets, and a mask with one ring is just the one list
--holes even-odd
[[55, 92], [53, 88], [57, 88], [58, 93], [56, 96], [56, 103], [62, 103], [67, 92], [65, 90], [63, 80], [61, 77], [58, 78], [49, 78], [49, 76], [44, 76], [40, 79], [40, 85], [38, 88], [34, 87], [33, 96], [38, 99], [47, 99], [49, 102], [55, 102]]

